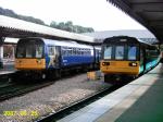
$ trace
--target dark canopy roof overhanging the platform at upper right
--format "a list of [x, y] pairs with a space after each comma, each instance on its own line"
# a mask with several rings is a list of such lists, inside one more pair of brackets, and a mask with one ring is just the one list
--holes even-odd
[[151, 30], [163, 44], [163, 0], [106, 0]]

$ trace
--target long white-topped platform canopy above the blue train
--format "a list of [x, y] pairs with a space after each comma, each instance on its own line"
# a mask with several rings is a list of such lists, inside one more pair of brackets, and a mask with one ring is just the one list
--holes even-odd
[[34, 24], [30, 22], [0, 15], [0, 37], [45, 37], [52, 39], [71, 39], [80, 42], [93, 42], [93, 38]]

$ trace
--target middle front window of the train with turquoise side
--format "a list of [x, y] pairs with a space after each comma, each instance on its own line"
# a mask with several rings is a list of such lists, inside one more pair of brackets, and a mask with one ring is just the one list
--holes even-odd
[[115, 47], [115, 59], [117, 60], [124, 59], [124, 46]]

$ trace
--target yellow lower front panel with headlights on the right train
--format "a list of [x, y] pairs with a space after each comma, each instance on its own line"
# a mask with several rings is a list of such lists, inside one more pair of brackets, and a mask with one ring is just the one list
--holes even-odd
[[100, 70], [104, 74], [139, 74], [139, 61], [104, 61], [100, 62]]

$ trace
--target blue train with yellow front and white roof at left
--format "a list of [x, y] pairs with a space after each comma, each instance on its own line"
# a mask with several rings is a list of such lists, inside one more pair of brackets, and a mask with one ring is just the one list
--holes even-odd
[[62, 72], [99, 69], [101, 47], [73, 40], [21, 38], [15, 52], [15, 77], [59, 78]]

